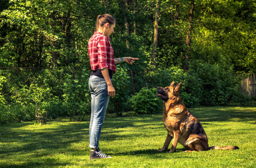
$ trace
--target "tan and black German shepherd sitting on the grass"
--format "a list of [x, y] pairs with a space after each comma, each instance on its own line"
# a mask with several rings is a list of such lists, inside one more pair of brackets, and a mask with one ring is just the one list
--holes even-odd
[[169, 153], [175, 151], [178, 142], [185, 146], [187, 150], [185, 152], [239, 149], [237, 146], [212, 146], [209, 148], [208, 138], [202, 124], [181, 101], [179, 95], [181, 82], [176, 86], [173, 84], [174, 81], [169, 87], [157, 87], [157, 96], [164, 100], [162, 121], [168, 132], [164, 146], [159, 151], [168, 149], [172, 138]]

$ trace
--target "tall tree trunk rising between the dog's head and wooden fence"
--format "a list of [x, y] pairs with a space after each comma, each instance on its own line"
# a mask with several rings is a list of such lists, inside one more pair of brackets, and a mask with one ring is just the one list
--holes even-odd
[[191, 35], [192, 35], [192, 30], [193, 30], [193, 18], [194, 18], [194, 10], [195, 10], [195, 1], [192, 0], [191, 1], [191, 8], [190, 8], [190, 11], [189, 11], [189, 28], [188, 28], [188, 32], [187, 32], [187, 38], [186, 38], [186, 45], [187, 45], [187, 48], [186, 48], [186, 54], [185, 54], [185, 60], [184, 60], [184, 63], [183, 63], [183, 71], [187, 71], [188, 69], [188, 60], [189, 60], [189, 57], [190, 57], [190, 46], [191, 46]]

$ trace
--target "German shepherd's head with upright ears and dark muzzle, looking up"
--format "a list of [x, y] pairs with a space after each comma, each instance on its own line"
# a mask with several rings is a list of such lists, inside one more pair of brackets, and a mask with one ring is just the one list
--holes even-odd
[[176, 86], [173, 86], [173, 85], [174, 85], [174, 81], [171, 82], [171, 85], [169, 87], [157, 87], [157, 91], [158, 91], [157, 96], [166, 102], [168, 100], [175, 101], [176, 97], [179, 97], [181, 82], [178, 83]]

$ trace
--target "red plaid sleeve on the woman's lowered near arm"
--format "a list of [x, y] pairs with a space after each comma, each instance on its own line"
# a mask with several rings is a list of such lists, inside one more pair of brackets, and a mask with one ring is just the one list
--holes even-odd
[[109, 41], [105, 36], [101, 36], [97, 43], [98, 49], [98, 64], [99, 68], [107, 68], [107, 51], [109, 50]]

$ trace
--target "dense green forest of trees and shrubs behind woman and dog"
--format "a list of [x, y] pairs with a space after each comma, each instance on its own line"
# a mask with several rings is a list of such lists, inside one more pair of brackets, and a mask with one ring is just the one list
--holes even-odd
[[[0, 124], [90, 114], [88, 40], [99, 14], [116, 19], [118, 64], [108, 113], [158, 113], [156, 87], [182, 82], [187, 108], [255, 97], [237, 73], [256, 72], [255, 0], [0, 0]], [[23, 67], [23, 68], [21, 68]]]

